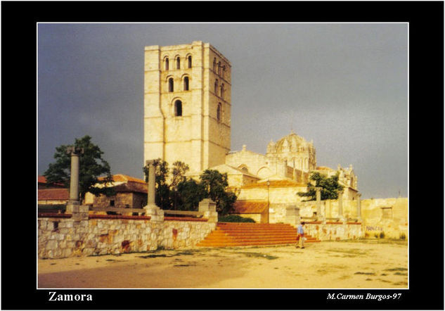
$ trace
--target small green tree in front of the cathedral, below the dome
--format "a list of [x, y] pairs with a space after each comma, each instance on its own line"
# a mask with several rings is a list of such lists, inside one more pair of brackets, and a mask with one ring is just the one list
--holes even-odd
[[307, 192], [298, 192], [299, 196], [305, 196], [308, 199], [305, 201], [316, 200], [316, 187], [321, 187], [321, 200], [330, 200], [338, 198], [338, 191], [343, 189], [343, 186], [338, 183], [339, 173], [327, 177], [325, 174], [314, 172], [309, 179], [315, 182], [315, 185], [311, 182], [307, 184]]

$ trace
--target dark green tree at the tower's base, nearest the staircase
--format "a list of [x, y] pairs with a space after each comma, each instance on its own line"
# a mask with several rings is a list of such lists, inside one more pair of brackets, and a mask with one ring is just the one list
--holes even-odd
[[205, 170], [200, 175], [200, 181], [207, 192], [207, 198], [217, 203], [217, 212], [226, 215], [236, 202], [236, 194], [227, 190], [227, 173]]

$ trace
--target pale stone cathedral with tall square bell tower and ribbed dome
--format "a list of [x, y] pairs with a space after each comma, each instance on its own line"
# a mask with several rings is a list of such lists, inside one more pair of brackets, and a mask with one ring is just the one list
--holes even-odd
[[144, 163], [179, 160], [189, 165], [190, 177], [206, 169], [227, 173], [238, 209], [256, 206], [263, 214], [267, 209], [268, 222], [273, 204], [302, 201], [296, 193], [306, 191], [312, 172], [339, 173], [343, 197], [356, 199], [352, 165], [335, 170], [317, 166], [313, 141], [294, 132], [271, 140], [264, 154], [246, 145], [231, 151], [232, 68], [214, 46], [200, 41], [146, 46], [144, 59]]

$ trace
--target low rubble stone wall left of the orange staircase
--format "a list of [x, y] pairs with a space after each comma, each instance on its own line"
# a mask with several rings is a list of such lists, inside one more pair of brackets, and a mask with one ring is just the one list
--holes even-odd
[[[148, 217], [146, 217], [148, 218]], [[216, 222], [148, 219], [38, 219], [39, 258], [145, 252], [158, 248], [193, 248]]]

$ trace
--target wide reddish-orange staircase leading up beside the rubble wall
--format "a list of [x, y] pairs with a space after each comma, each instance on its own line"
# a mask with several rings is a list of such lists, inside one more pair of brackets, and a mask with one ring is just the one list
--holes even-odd
[[[320, 242], [306, 236], [305, 243]], [[295, 244], [297, 229], [290, 224], [257, 224], [249, 222], [218, 222], [217, 228], [200, 241], [197, 246], [268, 246]]]

